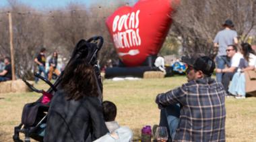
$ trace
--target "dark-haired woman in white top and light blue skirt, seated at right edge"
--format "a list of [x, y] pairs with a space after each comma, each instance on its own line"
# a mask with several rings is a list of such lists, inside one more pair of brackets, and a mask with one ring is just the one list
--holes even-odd
[[232, 78], [228, 92], [236, 98], [245, 98], [245, 71], [254, 70], [256, 66], [255, 52], [248, 43], [241, 44], [243, 58], [240, 60], [239, 68]]

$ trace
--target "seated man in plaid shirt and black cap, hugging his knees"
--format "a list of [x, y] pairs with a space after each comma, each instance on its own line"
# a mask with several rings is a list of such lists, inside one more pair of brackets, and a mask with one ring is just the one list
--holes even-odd
[[160, 119], [166, 119], [174, 141], [225, 141], [226, 92], [211, 78], [214, 61], [202, 56], [183, 62], [189, 64], [188, 82], [156, 96]]

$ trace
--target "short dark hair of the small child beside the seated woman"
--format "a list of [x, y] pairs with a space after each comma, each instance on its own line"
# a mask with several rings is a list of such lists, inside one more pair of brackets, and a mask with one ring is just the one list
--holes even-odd
[[102, 102], [103, 107], [103, 116], [106, 122], [108, 121], [115, 121], [117, 117], [117, 106], [110, 101], [105, 100]]

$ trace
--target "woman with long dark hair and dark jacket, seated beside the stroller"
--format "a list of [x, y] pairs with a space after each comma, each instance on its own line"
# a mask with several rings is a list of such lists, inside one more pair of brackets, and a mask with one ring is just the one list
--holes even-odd
[[44, 141], [94, 141], [108, 133], [98, 96], [94, 67], [70, 62], [51, 100]]

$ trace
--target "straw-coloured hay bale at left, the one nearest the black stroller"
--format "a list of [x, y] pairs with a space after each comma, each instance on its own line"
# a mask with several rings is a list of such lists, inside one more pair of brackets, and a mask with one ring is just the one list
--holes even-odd
[[11, 82], [11, 92], [30, 92], [30, 88], [22, 80], [15, 80]]

